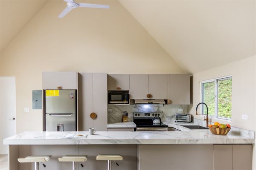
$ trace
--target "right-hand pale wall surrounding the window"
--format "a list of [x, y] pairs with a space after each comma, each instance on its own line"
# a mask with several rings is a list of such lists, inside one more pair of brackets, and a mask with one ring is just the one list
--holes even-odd
[[[232, 120], [212, 119], [212, 122], [230, 123], [242, 129], [256, 130], [256, 57], [249, 57], [227, 65], [213, 68], [193, 75], [193, 104], [189, 110], [195, 116], [196, 105], [200, 102], [200, 81], [232, 75]], [[242, 119], [248, 115], [248, 120]], [[202, 116], [195, 118], [203, 119]]]

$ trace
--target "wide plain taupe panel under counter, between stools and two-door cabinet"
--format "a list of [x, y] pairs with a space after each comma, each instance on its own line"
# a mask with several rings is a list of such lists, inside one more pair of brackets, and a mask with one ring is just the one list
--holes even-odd
[[140, 144], [137, 170], [212, 170], [212, 144]]

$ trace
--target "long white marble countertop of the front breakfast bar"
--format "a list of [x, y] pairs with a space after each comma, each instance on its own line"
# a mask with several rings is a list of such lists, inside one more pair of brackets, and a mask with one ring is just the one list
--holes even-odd
[[96, 132], [86, 139], [61, 139], [67, 133], [88, 132], [23, 132], [4, 139], [9, 145], [36, 144], [254, 144], [254, 136], [228, 133], [227, 136], [213, 135], [209, 130], [181, 132]]

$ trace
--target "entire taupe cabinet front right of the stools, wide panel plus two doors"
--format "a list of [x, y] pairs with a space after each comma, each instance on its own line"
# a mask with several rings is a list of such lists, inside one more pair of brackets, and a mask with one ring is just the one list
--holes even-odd
[[252, 170], [251, 144], [139, 144], [137, 170]]

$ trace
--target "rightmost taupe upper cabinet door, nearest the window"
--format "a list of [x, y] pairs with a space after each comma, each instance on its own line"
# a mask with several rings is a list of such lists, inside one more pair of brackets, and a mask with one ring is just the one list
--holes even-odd
[[190, 105], [190, 76], [188, 74], [168, 75], [168, 103]]

